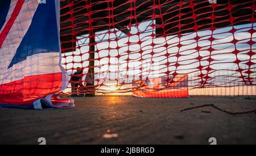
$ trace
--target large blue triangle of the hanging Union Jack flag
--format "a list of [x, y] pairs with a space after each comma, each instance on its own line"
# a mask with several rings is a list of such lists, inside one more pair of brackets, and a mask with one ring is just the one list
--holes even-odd
[[23, 37], [13, 60], [11, 60], [9, 68], [34, 54], [59, 53], [60, 43], [58, 31], [55, 1], [47, 1], [46, 4], [39, 4], [30, 28]]

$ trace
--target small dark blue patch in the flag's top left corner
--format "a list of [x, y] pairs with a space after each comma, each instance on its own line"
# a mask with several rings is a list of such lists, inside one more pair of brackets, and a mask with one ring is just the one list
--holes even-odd
[[6, 22], [6, 16], [9, 12], [11, 0], [0, 0], [0, 30]]

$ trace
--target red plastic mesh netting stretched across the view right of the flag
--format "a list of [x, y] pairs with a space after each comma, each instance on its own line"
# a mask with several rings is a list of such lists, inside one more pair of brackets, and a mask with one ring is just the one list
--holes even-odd
[[255, 2], [60, 0], [64, 92], [135, 92], [156, 78], [146, 89], [255, 90]]

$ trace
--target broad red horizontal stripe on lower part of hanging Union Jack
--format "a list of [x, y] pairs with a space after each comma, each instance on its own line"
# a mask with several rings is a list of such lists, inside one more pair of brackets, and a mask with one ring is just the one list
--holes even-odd
[[62, 73], [30, 75], [0, 85], [0, 104], [29, 106], [35, 100], [55, 94], [62, 87]]

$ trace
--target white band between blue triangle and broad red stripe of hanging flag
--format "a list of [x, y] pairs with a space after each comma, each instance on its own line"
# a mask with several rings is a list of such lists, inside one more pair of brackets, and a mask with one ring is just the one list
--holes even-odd
[[6, 74], [0, 75], [0, 85], [18, 81], [28, 75], [62, 73], [59, 64], [59, 52], [39, 53], [27, 57], [26, 60], [15, 64]]

